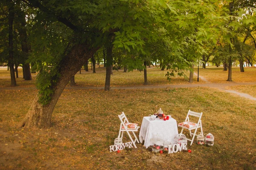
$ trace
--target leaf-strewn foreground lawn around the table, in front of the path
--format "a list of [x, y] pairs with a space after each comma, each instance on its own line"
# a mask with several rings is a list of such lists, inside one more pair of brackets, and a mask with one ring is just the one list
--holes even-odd
[[[255, 101], [215, 88], [70, 89], [58, 100], [51, 128], [17, 129], [36, 92], [0, 91], [1, 170], [256, 169]], [[141, 125], [155, 105], [177, 122], [184, 121], [189, 109], [203, 112], [204, 133], [215, 136], [214, 146], [193, 144], [188, 146], [192, 153], [160, 154], [137, 144], [137, 149], [110, 153], [119, 132], [117, 115], [124, 111]]]

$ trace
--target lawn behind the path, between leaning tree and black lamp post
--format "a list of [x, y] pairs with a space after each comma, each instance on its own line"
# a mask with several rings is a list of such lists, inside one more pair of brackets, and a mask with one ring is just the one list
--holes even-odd
[[[188, 79], [184, 77], [175, 76], [172, 77], [171, 82], [167, 80], [165, 74], [167, 71], [161, 71], [160, 68], [147, 68], [147, 77], [149, 85], [169, 85], [169, 84], [188, 84]], [[96, 78], [95, 78], [96, 75]], [[186, 72], [188, 75], [188, 72]], [[75, 76], [75, 81], [77, 86], [104, 86], [105, 85], [105, 68], [97, 68], [96, 73], [86, 72], [82, 70], [82, 73], [77, 73]], [[193, 83], [197, 82], [197, 77], [193, 77]], [[202, 83], [202, 81], [200, 82]], [[123, 70], [113, 71], [111, 75], [111, 86], [133, 86], [133, 85], [143, 85], [144, 84], [144, 72], [143, 71], [130, 71], [124, 73]]]

